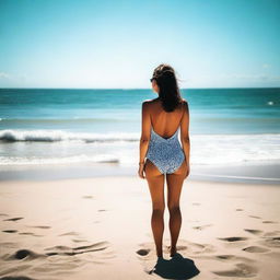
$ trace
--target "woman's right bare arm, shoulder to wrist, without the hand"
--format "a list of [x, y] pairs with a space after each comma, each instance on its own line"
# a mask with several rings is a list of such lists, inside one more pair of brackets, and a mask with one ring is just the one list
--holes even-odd
[[180, 142], [183, 145], [187, 164], [189, 164], [189, 151], [190, 151], [190, 141], [189, 141], [188, 131], [189, 131], [189, 109], [188, 109], [188, 103], [187, 101], [185, 101], [184, 115], [180, 122]]

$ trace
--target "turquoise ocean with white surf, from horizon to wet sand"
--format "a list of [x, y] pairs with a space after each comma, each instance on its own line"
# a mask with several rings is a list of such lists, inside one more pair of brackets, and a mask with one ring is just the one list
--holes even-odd
[[[183, 89], [190, 164], [280, 164], [280, 89]], [[152, 90], [0, 89], [0, 168], [138, 166], [141, 103]], [[105, 164], [105, 165], [104, 165]]]

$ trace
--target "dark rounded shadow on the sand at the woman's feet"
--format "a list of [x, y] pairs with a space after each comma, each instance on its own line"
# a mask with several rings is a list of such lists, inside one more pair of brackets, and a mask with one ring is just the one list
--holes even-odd
[[158, 258], [156, 265], [151, 273], [166, 279], [190, 279], [199, 273], [199, 270], [195, 266], [194, 260], [184, 258], [180, 254], [176, 253], [170, 260], [164, 258]]

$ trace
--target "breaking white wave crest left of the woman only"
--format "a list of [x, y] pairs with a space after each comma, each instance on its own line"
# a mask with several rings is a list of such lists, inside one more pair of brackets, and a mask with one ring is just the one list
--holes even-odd
[[57, 142], [57, 141], [83, 141], [90, 142], [115, 142], [115, 141], [138, 141], [139, 133], [108, 132], [108, 133], [85, 133], [68, 132], [63, 130], [0, 130], [0, 141], [16, 142]]

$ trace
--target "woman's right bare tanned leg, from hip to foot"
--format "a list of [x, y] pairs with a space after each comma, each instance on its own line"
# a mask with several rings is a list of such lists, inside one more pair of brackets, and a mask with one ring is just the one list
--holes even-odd
[[179, 198], [184, 178], [186, 176], [186, 162], [173, 174], [166, 175], [167, 182], [167, 206], [170, 211], [170, 231], [171, 231], [171, 257], [175, 255], [176, 244], [182, 225], [182, 213], [179, 208]]

